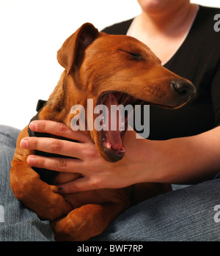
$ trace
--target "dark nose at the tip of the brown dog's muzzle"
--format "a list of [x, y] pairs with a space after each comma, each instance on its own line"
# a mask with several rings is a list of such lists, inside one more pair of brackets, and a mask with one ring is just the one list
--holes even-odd
[[172, 81], [170, 86], [173, 91], [178, 93], [178, 95], [185, 96], [186, 98], [190, 96], [192, 97], [196, 93], [194, 85], [183, 79]]

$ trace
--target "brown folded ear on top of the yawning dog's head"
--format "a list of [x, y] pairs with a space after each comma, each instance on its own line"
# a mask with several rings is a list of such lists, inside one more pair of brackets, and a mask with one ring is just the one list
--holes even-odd
[[98, 37], [98, 29], [91, 23], [84, 23], [74, 34], [65, 40], [57, 52], [57, 60], [67, 70], [67, 75], [73, 67], [80, 62], [79, 56], [83, 56], [85, 48]]

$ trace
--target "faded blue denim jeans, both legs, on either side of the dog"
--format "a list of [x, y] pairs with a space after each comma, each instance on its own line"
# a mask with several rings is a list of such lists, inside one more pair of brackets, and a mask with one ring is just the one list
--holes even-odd
[[[0, 125], [0, 241], [54, 241], [49, 222], [25, 208], [10, 189], [18, 133]], [[220, 241], [215, 205], [220, 207], [220, 175], [128, 209], [91, 241]]]

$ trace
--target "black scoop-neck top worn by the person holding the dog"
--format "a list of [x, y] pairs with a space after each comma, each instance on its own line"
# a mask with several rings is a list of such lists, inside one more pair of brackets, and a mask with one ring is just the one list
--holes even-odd
[[[220, 32], [213, 29], [220, 9], [199, 6], [191, 30], [164, 67], [190, 80], [197, 95], [180, 109], [150, 106], [148, 139], [193, 136], [220, 125]], [[126, 34], [133, 19], [114, 24], [103, 32]]]

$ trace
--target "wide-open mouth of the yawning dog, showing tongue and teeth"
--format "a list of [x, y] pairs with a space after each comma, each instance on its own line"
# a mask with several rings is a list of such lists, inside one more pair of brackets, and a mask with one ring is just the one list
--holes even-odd
[[[111, 158], [111, 161], [119, 161], [125, 154], [123, 139], [128, 129], [129, 117], [131, 117], [131, 114], [133, 114], [135, 110], [134, 106], [157, 104], [133, 98], [133, 96], [124, 92], [105, 92], [100, 95], [98, 104], [104, 105], [108, 109], [107, 113], [102, 113], [104, 118], [101, 123], [103, 129], [100, 131], [101, 146], [106, 155]], [[119, 105], [122, 106], [122, 111], [120, 111]], [[128, 105], [130, 108], [128, 108]], [[112, 106], [115, 106], [115, 108]], [[172, 106], [162, 105], [161, 107], [167, 109], [173, 108]], [[115, 109], [117, 109], [117, 111], [115, 111]]]

